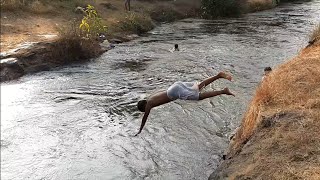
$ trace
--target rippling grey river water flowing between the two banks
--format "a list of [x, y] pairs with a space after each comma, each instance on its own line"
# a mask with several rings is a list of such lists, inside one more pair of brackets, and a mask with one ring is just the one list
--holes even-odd
[[[117, 45], [89, 63], [1, 84], [1, 179], [206, 179], [239, 125], [266, 66], [294, 57], [320, 21], [320, 1], [223, 20], [185, 19]], [[173, 45], [179, 52], [172, 52]], [[139, 99], [175, 81], [227, 71], [206, 90], [236, 97]]]

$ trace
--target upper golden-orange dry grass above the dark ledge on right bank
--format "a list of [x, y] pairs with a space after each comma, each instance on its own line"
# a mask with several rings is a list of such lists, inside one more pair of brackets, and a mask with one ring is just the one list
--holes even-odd
[[307, 48], [279, 66], [257, 88], [235, 136], [239, 148], [254, 132], [263, 116], [320, 107], [320, 46]]

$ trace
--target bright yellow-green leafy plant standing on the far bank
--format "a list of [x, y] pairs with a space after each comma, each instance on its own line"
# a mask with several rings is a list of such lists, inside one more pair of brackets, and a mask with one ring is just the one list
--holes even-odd
[[79, 28], [87, 38], [97, 37], [100, 33], [105, 33], [107, 27], [102, 24], [102, 18], [98, 15], [93, 6], [88, 5], [86, 15], [83, 17]]

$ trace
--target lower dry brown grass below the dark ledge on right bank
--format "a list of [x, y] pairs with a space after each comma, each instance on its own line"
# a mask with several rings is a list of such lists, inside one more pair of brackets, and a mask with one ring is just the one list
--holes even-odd
[[312, 117], [287, 113], [269, 118], [273, 125], [259, 127], [222, 168], [228, 179], [319, 179], [320, 114], [315, 113]]

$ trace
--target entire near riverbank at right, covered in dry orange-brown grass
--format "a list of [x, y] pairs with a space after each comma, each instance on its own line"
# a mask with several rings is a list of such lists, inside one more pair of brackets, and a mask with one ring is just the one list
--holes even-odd
[[214, 179], [320, 178], [320, 26], [265, 77]]

